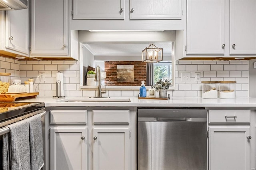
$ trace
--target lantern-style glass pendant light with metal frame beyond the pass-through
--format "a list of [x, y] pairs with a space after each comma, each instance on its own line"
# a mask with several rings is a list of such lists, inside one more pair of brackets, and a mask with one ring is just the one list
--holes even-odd
[[163, 49], [151, 43], [142, 50], [142, 62], [159, 62], [163, 60]]

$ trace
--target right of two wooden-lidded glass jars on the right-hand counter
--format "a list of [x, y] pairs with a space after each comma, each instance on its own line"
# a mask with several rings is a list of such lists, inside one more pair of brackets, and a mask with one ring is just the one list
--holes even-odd
[[236, 81], [219, 81], [219, 98], [236, 99]]

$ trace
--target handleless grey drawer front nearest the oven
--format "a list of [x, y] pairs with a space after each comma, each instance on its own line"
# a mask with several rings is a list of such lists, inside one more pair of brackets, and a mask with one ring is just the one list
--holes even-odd
[[50, 123], [74, 123], [74, 124], [86, 124], [87, 123], [87, 111], [50, 111]]

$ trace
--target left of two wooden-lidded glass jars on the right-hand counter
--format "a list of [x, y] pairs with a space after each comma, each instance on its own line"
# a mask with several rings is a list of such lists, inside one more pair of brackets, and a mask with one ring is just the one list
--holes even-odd
[[217, 83], [218, 81], [202, 81], [202, 98], [204, 99], [217, 99]]

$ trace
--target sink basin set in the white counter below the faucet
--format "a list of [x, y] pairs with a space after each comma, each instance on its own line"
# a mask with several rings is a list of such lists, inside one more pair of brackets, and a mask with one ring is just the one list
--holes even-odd
[[64, 102], [130, 102], [129, 98], [114, 99], [114, 98], [70, 98], [61, 99]]

